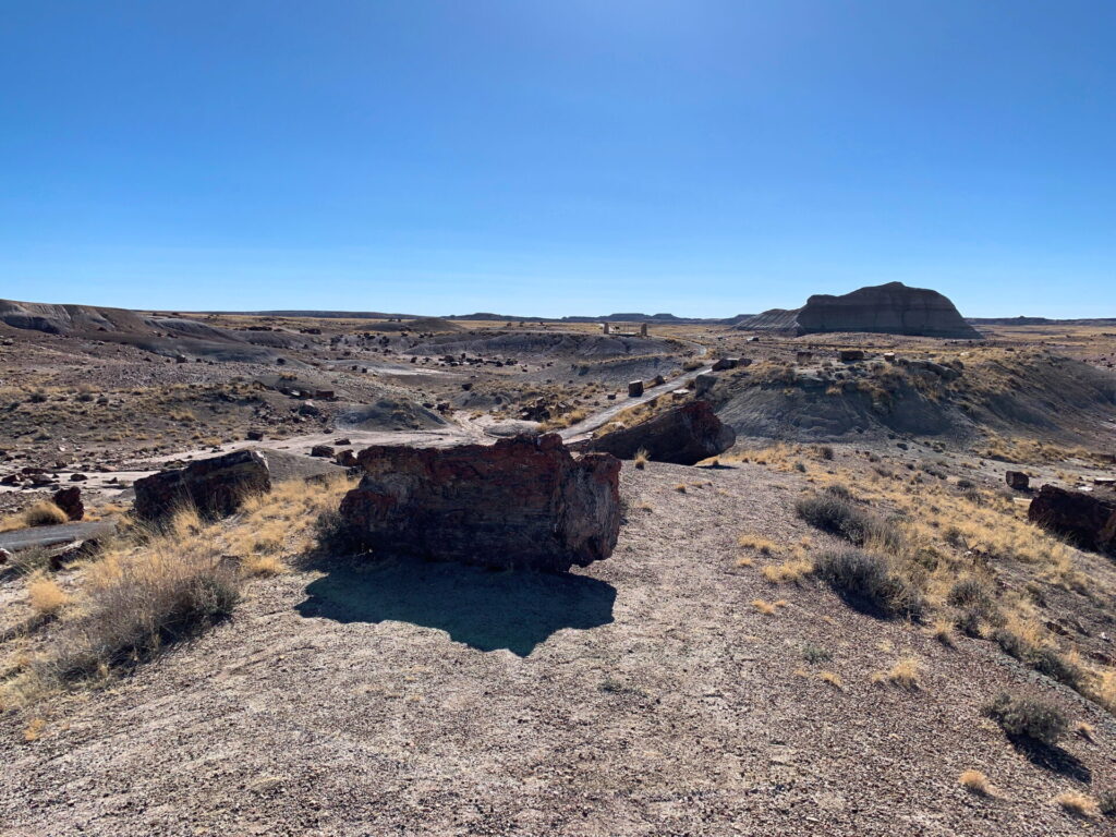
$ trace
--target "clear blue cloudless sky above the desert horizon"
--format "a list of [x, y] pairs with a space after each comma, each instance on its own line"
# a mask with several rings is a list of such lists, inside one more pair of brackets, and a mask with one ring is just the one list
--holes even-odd
[[1116, 0], [0, 0], [0, 297], [1116, 316]]

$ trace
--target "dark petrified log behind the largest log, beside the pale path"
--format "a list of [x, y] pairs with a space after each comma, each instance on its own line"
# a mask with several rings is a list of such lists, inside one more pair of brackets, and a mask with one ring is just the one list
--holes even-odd
[[716, 417], [708, 401], [693, 401], [594, 439], [588, 448], [620, 459], [634, 459], [645, 450], [654, 462], [692, 465], [724, 453], [735, 441], [735, 431]]

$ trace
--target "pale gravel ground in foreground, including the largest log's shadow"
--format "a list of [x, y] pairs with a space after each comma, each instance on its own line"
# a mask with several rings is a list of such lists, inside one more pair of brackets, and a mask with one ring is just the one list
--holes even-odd
[[[622, 479], [617, 550], [576, 575], [387, 562], [260, 580], [194, 644], [40, 709], [39, 740], [4, 716], [0, 833], [1083, 833], [1052, 800], [1113, 786], [1109, 715], [990, 643], [950, 650], [817, 585], [771, 587], [761, 558], [737, 565], [741, 533], [807, 533], [799, 474], [626, 463]], [[906, 653], [921, 690], [870, 682]], [[1094, 741], [1032, 763], [980, 714], [1008, 685]], [[992, 797], [959, 787], [971, 768]]]

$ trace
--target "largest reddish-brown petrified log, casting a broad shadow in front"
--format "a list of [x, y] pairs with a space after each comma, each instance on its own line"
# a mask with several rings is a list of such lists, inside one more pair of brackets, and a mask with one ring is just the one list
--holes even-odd
[[341, 501], [376, 551], [562, 571], [607, 558], [619, 532], [619, 462], [575, 460], [557, 434], [453, 448], [376, 445]]

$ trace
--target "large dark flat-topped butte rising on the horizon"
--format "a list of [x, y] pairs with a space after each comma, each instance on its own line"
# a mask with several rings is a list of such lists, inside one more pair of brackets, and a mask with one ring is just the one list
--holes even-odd
[[860, 288], [844, 296], [816, 294], [802, 308], [764, 311], [737, 328], [799, 335], [872, 331], [968, 340], [981, 337], [946, 297], [903, 282]]

